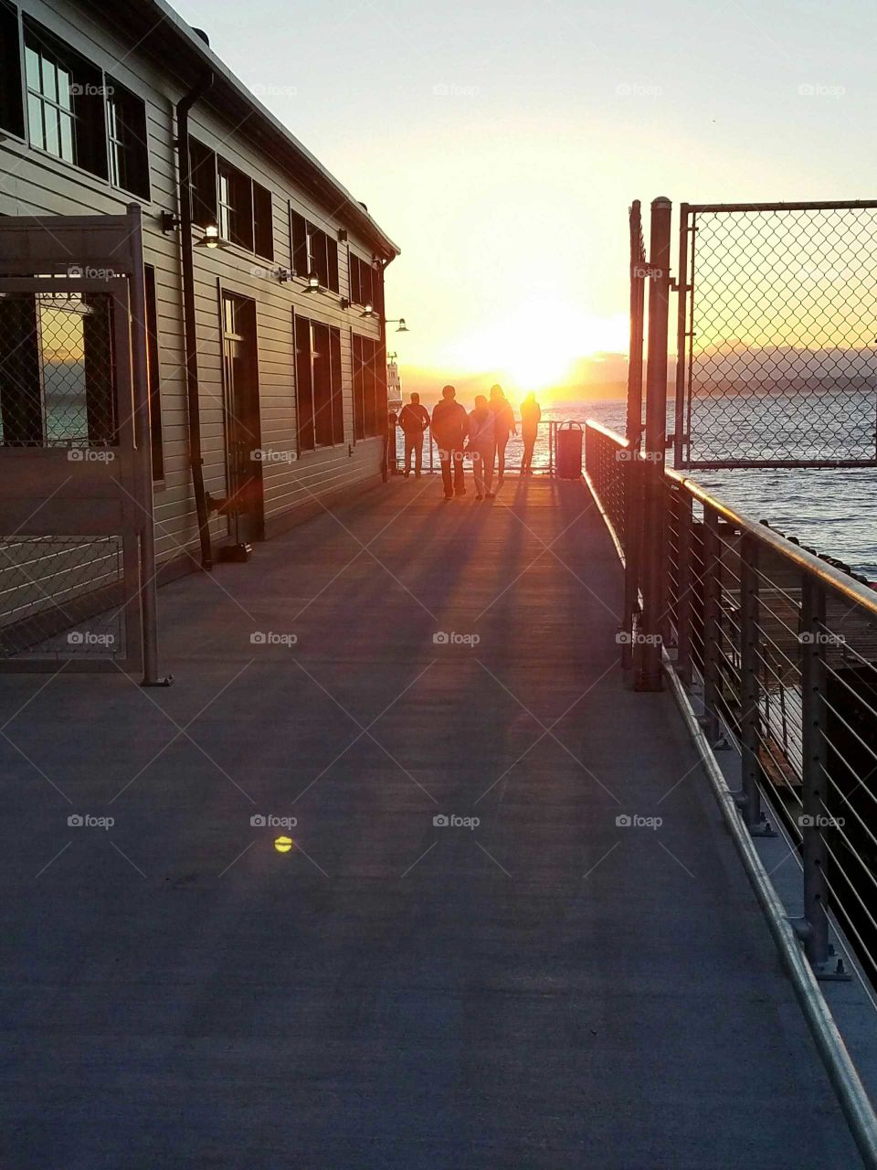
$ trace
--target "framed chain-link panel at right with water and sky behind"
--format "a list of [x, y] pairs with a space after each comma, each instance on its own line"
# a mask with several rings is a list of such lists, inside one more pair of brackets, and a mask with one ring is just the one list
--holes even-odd
[[677, 468], [877, 464], [877, 202], [679, 208]]

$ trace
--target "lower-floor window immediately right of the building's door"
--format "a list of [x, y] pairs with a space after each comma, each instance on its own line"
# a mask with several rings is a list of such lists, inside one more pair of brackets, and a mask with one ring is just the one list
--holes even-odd
[[298, 449], [344, 442], [340, 330], [296, 316]]

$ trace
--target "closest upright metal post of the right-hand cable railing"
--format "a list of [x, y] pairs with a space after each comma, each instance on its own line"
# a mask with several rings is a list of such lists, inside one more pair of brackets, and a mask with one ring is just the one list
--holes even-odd
[[826, 594], [809, 577], [801, 574], [801, 738], [802, 793], [801, 837], [803, 854], [805, 929], [807, 957], [815, 968], [828, 964], [828, 886], [826, 866], [826, 755], [827, 711]]

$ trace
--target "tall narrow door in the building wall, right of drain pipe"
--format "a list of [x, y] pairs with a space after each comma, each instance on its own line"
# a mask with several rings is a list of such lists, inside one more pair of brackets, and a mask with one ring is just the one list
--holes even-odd
[[229, 532], [237, 544], [263, 538], [262, 449], [256, 363], [256, 302], [222, 294], [222, 372]]

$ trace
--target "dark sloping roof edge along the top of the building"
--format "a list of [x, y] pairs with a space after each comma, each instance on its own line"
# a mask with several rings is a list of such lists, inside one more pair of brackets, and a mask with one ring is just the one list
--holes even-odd
[[[338, 206], [332, 209], [332, 214], [339, 216], [350, 227], [358, 230], [370, 243], [375, 246], [375, 249], [382, 253], [384, 259], [392, 260], [394, 256], [400, 254], [400, 248], [389, 236], [379, 227], [379, 225], [372, 219], [368, 212], [362, 207], [362, 205], [353, 198], [353, 195], [344, 187], [336, 177], [326, 170], [326, 167], [319, 161], [319, 159], [312, 154], [306, 146], [304, 146], [299, 140], [292, 135], [288, 128], [276, 118], [270, 110], [268, 110], [258, 98], [236, 77], [228, 66], [222, 62], [216, 54], [210, 49], [207, 43], [199, 36], [199, 34], [186, 23], [186, 21], [175, 12], [166, 0], [132, 0], [138, 7], [151, 8], [156, 16], [159, 18], [159, 23], [166, 26], [172, 26], [173, 32], [179, 36], [186, 49], [195, 53], [203, 61], [205, 66], [213, 70], [215, 76], [214, 91], [216, 87], [222, 87], [223, 84], [230, 88], [235, 95], [242, 99], [253, 112], [258, 117], [262, 129], [267, 131], [268, 137], [278, 137], [281, 139], [279, 145], [285, 145], [286, 149], [298, 158], [303, 164], [306, 172], [310, 172], [313, 181], [311, 191], [313, 193], [324, 192], [324, 201], [331, 202], [333, 198], [338, 199]], [[159, 32], [158, 25], [156, 26], [156, 33]]]

